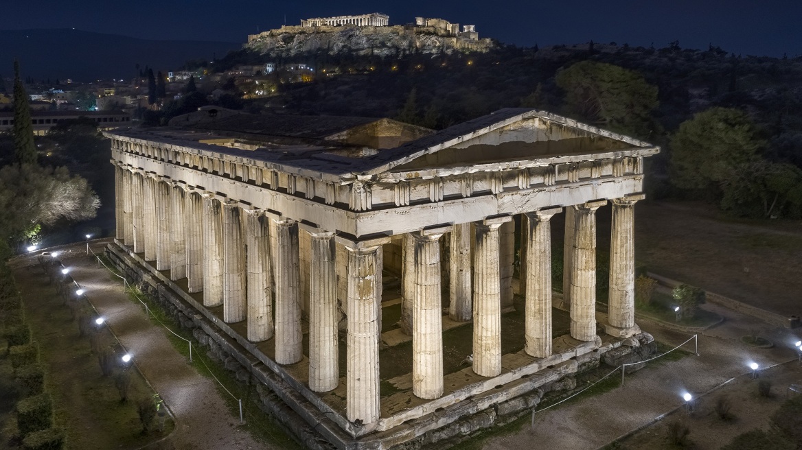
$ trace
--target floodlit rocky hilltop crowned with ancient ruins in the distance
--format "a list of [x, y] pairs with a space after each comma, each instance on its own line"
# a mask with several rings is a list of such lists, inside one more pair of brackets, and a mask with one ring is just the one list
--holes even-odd
[[495, 44], [479, 38], [475, 26], [440, 18], [415, 18], [415, 24], [390, 26], [385, 14], [310, 18], [300, 26], [282, 26], [248, 36], [245, 48], [270, 56], [326, 50], [328, 54], [388, 56], [404, 53], [452, 54], [488, 51]]

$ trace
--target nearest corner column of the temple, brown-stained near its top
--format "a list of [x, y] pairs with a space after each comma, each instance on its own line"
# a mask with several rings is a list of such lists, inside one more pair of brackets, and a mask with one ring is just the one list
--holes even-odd
[[354, 422], [379, 420], [379, 341], [376, 272], [379, 246], [348, 250], [348, 337], [346, 416]]

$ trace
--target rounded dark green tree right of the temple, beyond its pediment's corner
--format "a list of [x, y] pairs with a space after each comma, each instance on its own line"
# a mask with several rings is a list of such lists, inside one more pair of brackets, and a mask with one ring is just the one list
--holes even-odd
[[720, 193], [736, 167], [758, 160], [763, 146], [743, 111], [715, 107], [697, 113], [671, 137], [671, 182], [681, 189]]

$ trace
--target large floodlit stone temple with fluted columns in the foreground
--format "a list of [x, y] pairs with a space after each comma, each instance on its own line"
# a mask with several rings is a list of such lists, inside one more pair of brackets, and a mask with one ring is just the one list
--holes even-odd
[[526, 410], [521, 398], [646, 339], [634, 323], [633, 211], [658, 147], [530, 109], [436, 133], [287, 116], [198, 127], [106, 133], [109, 251], [280, 399], [269, 408], [307, 444], [392, 448], [469, 432], [487, 425], [472, 415]]

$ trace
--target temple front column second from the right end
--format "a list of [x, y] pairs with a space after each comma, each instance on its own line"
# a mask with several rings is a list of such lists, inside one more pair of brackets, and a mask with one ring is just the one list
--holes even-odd
[[596, 210], [606, 200], [574, 206], [571, 272], [571, 337], [593, 341], [596, 335]]

